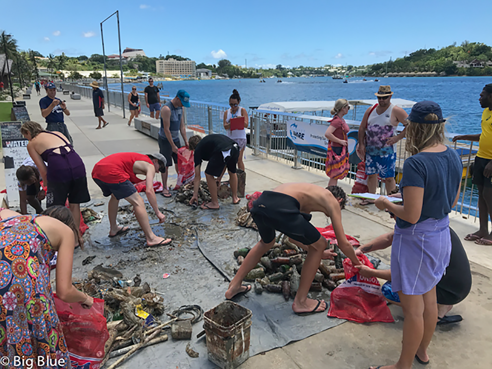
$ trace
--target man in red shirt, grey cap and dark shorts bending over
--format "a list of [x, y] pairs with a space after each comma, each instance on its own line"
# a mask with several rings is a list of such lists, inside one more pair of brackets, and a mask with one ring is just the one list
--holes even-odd
[[133, 205], [133, 211], [138, 223], [144, 231], [148, 246], [167, 245], [171, 239], [158, 237], [152, 231], [149, 216], [145, 209], [144, 200], [138, 194], [134, 184], [141, 182], [136, 175], [145, 176], [147, 199], [159, 218], [159, 223], [164, 222], [165, 215], [159, 211], [154, 192], [155, 172], [166, 171], [166, 158], [162, 154], [137, 154], [118, 153], [106, 156], [99, 160], [92, 169], [92, 179], [102, 189], [105, 197], [110, 196], [108, 203], [109, 237], [115, 237], [128, 232], [128, 227], [119, 227], [116, 223], [118, 205], [121, 199], [125, 199]]

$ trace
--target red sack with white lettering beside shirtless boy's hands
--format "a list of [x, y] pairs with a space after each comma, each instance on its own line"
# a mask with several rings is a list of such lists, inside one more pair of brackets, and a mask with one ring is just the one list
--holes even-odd
[[[358, 258], [361, 263], [374, 269], [366, 255]], [[343, 260], [343, 271], [346, 280], [332, 291], [328, 316], [356, 323], [395, 321], [376, 277], [362, 277], [348, 258]]]

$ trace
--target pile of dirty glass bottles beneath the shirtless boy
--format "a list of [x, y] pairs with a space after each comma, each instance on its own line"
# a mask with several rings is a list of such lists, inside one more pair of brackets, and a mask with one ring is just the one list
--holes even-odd
[[[244, 215], [246, 214], [249, 213]], [[321, 260], [310, 291], [321, 292], [323, 288], [332, 291], [345, 281], [342, 265], [345, 255], [336, 245], [331, 245], [330, 248], [332, 246], [337, 256], [335, 260]], [[243, 263], [249, 250], [249, 248], [240, 248], [234, 251], [238, 265]], [[289, 297], [295, 297], [297, 293], [306, 256], [306, 250], [294, 245], [287, 236], [279, 234], [275, 245], [263, 255], [260, 263], [246, 275], [245, 280], [254, 281], [254, 290], [257, 294], [265, 290], [282, 293], [285, 301], [288, 301]], [[234, 272], [237, 273], [238, 269], [235, 267]]]

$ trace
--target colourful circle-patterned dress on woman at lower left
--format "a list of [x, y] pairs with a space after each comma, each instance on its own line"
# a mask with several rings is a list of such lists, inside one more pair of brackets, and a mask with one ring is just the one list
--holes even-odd
[[35, 223], [37, 216], [0, 221], [0, 356], [10, 359], [8, 368], [14, 368], [15, 356], [33, 358], [34, 363], [38, 357], [45, 362], [49, 357], [51, 363], [64, 359], [63, 368], [70, 368], [50, 283], [55, 251]]

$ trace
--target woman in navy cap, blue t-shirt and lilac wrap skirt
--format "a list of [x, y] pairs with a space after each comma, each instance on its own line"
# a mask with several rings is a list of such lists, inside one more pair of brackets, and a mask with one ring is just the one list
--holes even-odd
[[[406, 121], [403, 205], [379, 197], [378, 209], [397, 216], [391, 250], [392, 291], [400, 296], [405, 322], [398, 368], [410, 369], [414, 358], [429, 362], [427, 348], [437, 322], [435, 286], [449, 264], [448, 214], [460, 193], [461, 158], [444, 145], [442, 111], [433, 101], [416, 103]], [[396, 366], [381, 367], [385, 369]]]

